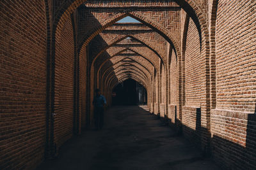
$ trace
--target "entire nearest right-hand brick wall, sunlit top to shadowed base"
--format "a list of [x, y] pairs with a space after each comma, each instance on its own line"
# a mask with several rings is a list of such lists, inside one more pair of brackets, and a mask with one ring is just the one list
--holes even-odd
[[218, 2], [216, 109], [211, 110], [211, 133], [214, 159], [224, 168], [256, 167], [255, 4]]

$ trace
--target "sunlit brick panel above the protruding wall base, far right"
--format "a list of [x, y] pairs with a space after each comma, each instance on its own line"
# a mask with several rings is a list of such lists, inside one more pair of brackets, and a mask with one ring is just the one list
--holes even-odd
[[253, 9], [252, 1], [218, 3], [216, 107], [219, 109], [250, 113], [255, 110], [256, 13]]

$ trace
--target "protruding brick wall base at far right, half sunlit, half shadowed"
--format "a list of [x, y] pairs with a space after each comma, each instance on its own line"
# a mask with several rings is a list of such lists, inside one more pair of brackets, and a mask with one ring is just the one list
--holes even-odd
[[212, 157], [223, 169], [256, 169], [256, 113], [212, 110], [211, 136]]

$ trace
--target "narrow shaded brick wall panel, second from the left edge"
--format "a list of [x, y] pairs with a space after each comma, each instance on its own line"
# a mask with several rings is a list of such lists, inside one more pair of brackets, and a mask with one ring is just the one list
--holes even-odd
[[54, 141], [57, 148], [73, 134], [74, 36], [71, 19], [56, 36]]

